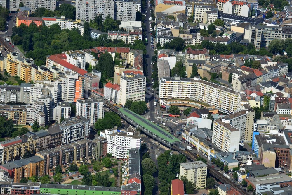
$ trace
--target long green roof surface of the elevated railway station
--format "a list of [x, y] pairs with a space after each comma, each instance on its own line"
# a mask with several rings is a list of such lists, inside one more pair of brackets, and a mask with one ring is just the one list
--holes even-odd
[[157, 126], [156, 124], [153, 124], [149, 120], [145, 119], [144, 117], [136, 114], [135, 112], [127, 109], [127, 108], [120, 108], [119, 111], [138, 123], [139, 125], [145, 127], [148, 131], [151, 131], [153, 134], [159, 136], [162, 139], [165, 139], [166, 141], [170, 143], [174, 143], [176, 141], [180, 141], [178, 138], [175, 136], [169, 134], [167, 131], [162, 129], [161, 127]]

